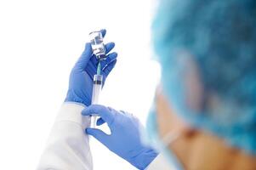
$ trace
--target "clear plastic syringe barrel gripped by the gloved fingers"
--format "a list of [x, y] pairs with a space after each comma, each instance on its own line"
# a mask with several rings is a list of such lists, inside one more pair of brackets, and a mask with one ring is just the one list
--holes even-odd
[[[99, 104], [100, 101], [100, 93], [103, 85], [103, 76], [102, 75], [94, 75], [94, 87], [92, 94], [92, 105]], [[91, 115], [91, 125], [90, 127], [95, 127], [97, 122], [97, 113]]]

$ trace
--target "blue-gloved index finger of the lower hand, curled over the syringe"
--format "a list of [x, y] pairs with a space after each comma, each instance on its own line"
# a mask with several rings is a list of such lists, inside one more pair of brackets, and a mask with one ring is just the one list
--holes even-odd
[[82, 110], [83, 116], [90, 116], [98, 114], [108, 125], [114, 121], [114, 114], [104, 105], [90, 105], [88, 108]]

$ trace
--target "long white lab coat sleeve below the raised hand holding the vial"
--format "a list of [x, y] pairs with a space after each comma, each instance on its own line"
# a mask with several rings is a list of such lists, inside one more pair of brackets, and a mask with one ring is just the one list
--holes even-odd
[[76, 103], [61, 106], [37, 170], [93, 169], [88, 135], [84, 133], [89, 118], [81, 115], [83, 108]]

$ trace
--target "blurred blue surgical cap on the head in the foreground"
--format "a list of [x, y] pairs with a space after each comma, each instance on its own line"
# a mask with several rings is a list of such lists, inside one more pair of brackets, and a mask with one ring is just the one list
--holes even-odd
[[[256, 155], [256, 1], [162, 0], [152, 37], [163, 92], [177, 114]], [[202, 84], [199, 110], [187, 105], [190, 60]]]

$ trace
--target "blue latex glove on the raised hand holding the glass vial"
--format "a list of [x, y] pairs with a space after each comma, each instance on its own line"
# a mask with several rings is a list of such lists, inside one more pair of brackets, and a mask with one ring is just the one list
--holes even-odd
[[[105, 30], [101, 30], [103, 37], [105, 37]], [[105, 45], [107, 59], [100, 62], [101, 74], [103, 75], [103, 84], [105, 78], [109, 75], [111, 70], [117, 63], [117, 53], [108, 54], [112, 48], [115, 47], [114, 42]], [[93, 54], [90, 43], [86, 43], [85, 49], [81, 57], [77, 60], [76, 65], [71, 71], [69, 89], [66, 94], [65, 101], [72, 101], [82, 103], [84, 105], [91, 105], [93, 80], [97, 72], [98, 59]]]

